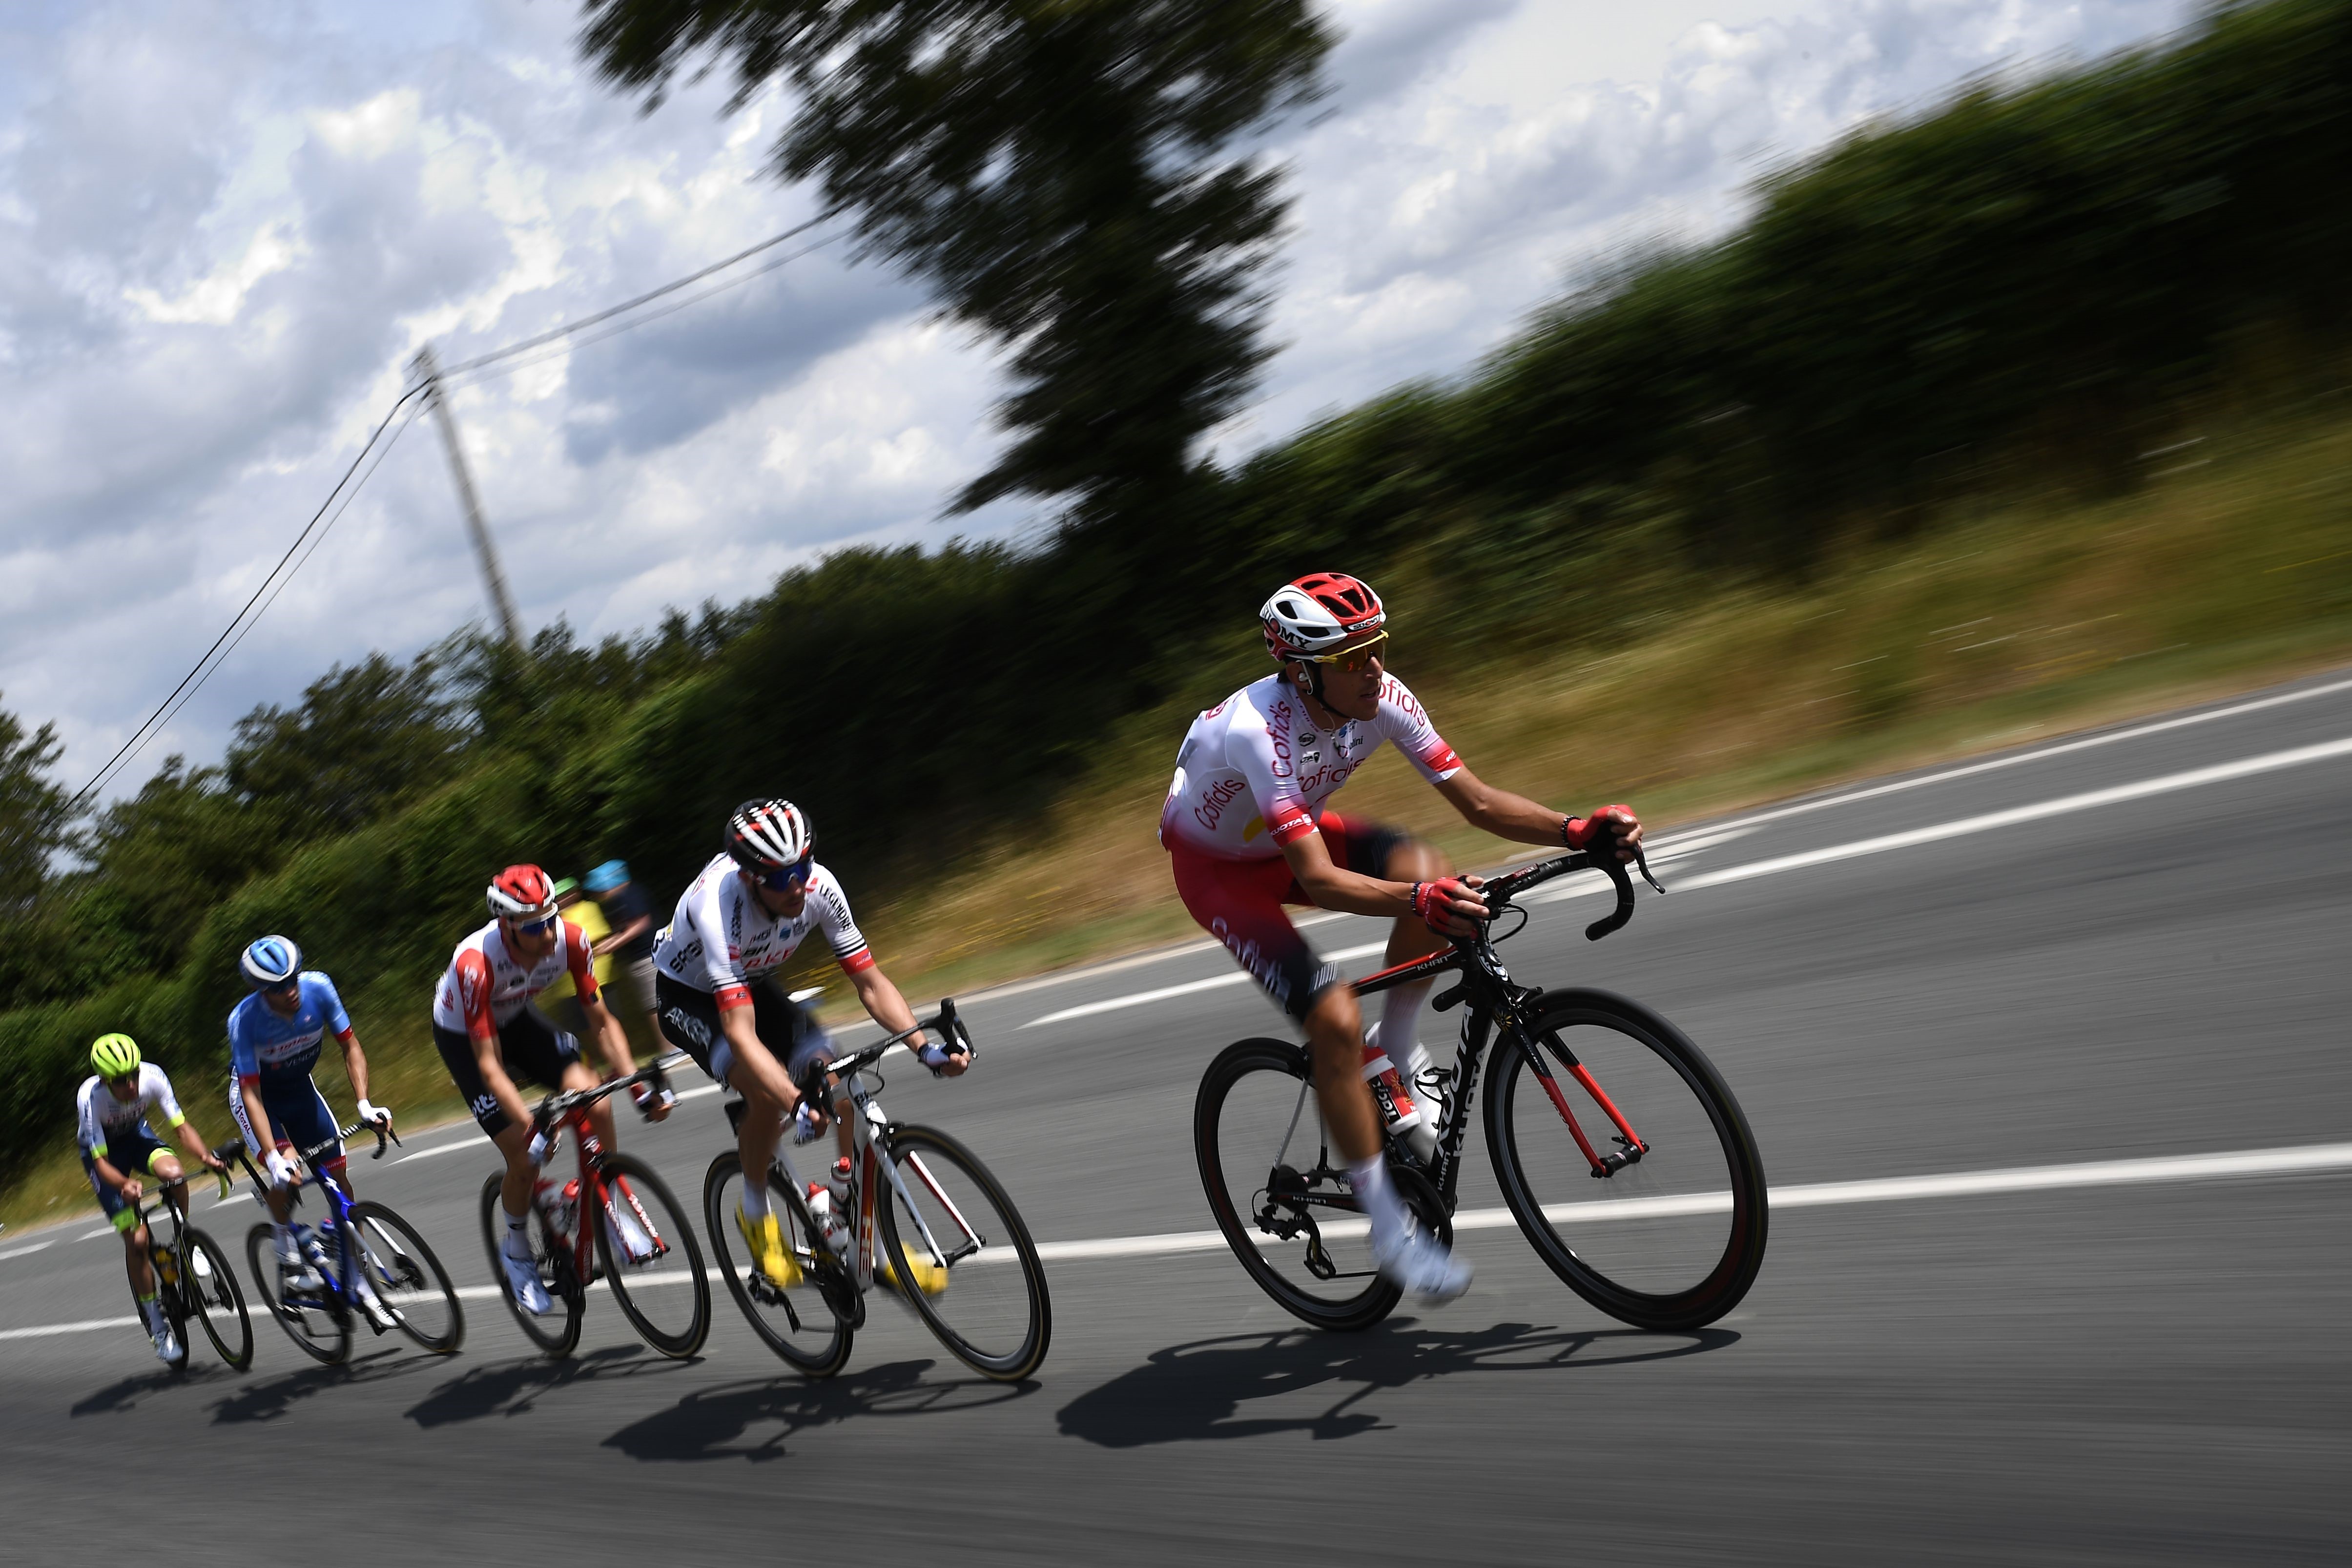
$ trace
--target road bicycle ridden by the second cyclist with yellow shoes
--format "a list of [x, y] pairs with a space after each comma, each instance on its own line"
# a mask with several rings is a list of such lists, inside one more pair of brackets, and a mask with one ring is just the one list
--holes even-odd
[[[802, 1095], [821, 1095], [823, 1103], [840, 1095], [851, 1105], [856, 1159], [842, 1215], [847, 1248], [835, 1253], [818, 1237], [786, 1138], [767, 1168], [767, 1201], [797, 1284], [771, 1284], [734, 1234], [743, 1161], [731, 1147], [710, 1161], [703, 1178], [710, 1251], [753, 1331], [809, 1378], [842, 1371], [849, 1342], [866, 1324], [866, 1293], [882, 1284], [915, 1307], [957, 1361], [983, 1378], [1021, 1382], [1044, 1361], [1054, 1338], [1044, 1262], [1021, 1211], [971, 1150], [938, 1128], [891, 1121], [875, 1100], [884, 1086], [875, 1063], [915, 1030], [929, 1030], [978, 1060], [971, 1032], [948, 999], [936, 1018], [833, 1063], [811, 1063], [797, 1079]], [[826, 1084], [828, 1074], [837, 1086]], [[743, 1100], [727, 1103], [727, 1119], [741, 1126]], [[818, 1147], [830, 1152], [835, 1143], [823, 1135]]]

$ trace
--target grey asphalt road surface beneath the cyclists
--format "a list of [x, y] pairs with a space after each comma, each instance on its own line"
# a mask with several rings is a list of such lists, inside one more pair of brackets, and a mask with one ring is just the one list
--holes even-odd
[[[1468, 1298], [1364, 1335], [1294, 1326], [1221, 1251], [1063, 1255], [1023, 1387], [887, 1302], [833, 1382], [724, 1295], [673, 1363], [602, 1291], [562, 1363], [468, 1300], [456, 1359], [369, 1342], [320, 1371], [256, 1321], [252, 1373], [198, 1349], [172, 1380], [132, 1328], [31, 1333], [127, 1307], [92, 1208], [0, 1239], [5, 1554], [2343, 1561], [2352, 682], [2263, 696], [2288, 701], [1682, 832], [1677, 893], [1630, 929], [1588, 945], [1599, 905], [1566, 898], [1505, 957], [1677, 1020], [1776, 1192], [2300, 1150], [2284, 1173], [1792, 1197], [1755, 1293], [1696, 1335], [1611, 1324], [1510, 1227], [1465, 1232]], [[1188, 950], [983, 997], [974, 1074], [901, 1070], [884, 1100], [978, 1147], [1044, 1241], [1197, 1232], [1192, 1086], [1272, 1011], [1211, 985], [1033, 1020], [1225, 971]], [[623, 1143], [691, 1194], [722, 1128], [703, 1095]], [[1496, 1204], [1470, 1147], [1463, 1204]], [[475, 1286], [489, 1164], [449, 1128], [353, 1171]], [[254, 1213], [200, 1220], [242, 1253]]]

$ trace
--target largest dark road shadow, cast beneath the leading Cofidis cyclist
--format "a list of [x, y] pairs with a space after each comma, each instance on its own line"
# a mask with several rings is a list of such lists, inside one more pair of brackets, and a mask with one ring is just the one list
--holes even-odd
[[[1639, 1328], [1564, 1331], [1531, 1324], [1444, 1333], [1414, 1321], [1385, 1324], [1359, 1335], [1315, 1328], [1235, 1333], [1157, 1349], [1131, 1373], [1065, 1403], [1058, 1418], [1063, 1436], [1080, 1436], [1103, 1448], [1268, 1432], [1338, 1439], [1385, 1427], [1378, 1413], [1357, 1406], [1423, 1378], [1562, 1373], [1665, 1361], [1722, 1349], [1738, 1338], [1729, 1328], [1661, 1335]], [[1301, 1413], [1298, 1403], [1312, 1403], [1317, 1392], [1329, 1394], [1329, 1403]], [[1247, 1413], [1256, 1408], [1249, 1401], [1265, 1399], [1282, 1403], [1265, 1406], [1263, 1415]]]

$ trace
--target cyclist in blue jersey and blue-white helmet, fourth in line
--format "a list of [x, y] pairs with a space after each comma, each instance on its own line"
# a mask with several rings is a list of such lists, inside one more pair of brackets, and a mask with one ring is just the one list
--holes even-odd
[[[332, 1154], [315, 1164], [336, 1187], [350, 1192], [334, 1112], [310, 1081], [327, 1034], [343, 1048], [343, 1072], [360, 1098], [360, 1121], [390, 1131], [393, 1112], [367, 1100], [367, 1053], [360, 1051], [360, 1037], [343, 1013], [334, 980], [301, 966], [301, 947], [285, 936], [263, 936], [245, 950], [238, 969], [254, 992], [228, 1011], [228, 1110], [245, 1133], [245, 1145], [270, 1178], [268, 1204], [285, 1284], [292, 1291], [318, 1291], [325, 1284], [318, 1276], [322, 1248], [313, 1237], [306, 1255], [294, 1239], [294, 1185], [301, 1182], [294, 1154], [332, 1145]], [[369, 1328], [376, 1333], [390, 1328], [390, 1316], [376, 1305], [367, 1279], [358, 1281], [358, 1298]]]

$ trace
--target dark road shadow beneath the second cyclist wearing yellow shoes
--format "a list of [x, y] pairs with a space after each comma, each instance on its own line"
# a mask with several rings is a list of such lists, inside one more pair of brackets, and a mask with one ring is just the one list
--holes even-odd
[[936, 1415], [1025, 1399], [1037, 1382], [924, 1380], [931, 1361], [866, 1366], [826, 1382], [776, 1378], [696, 1389], [604, 1439], [633, 1460], [786, 1460], [790, 1439], [863, 1415]]

